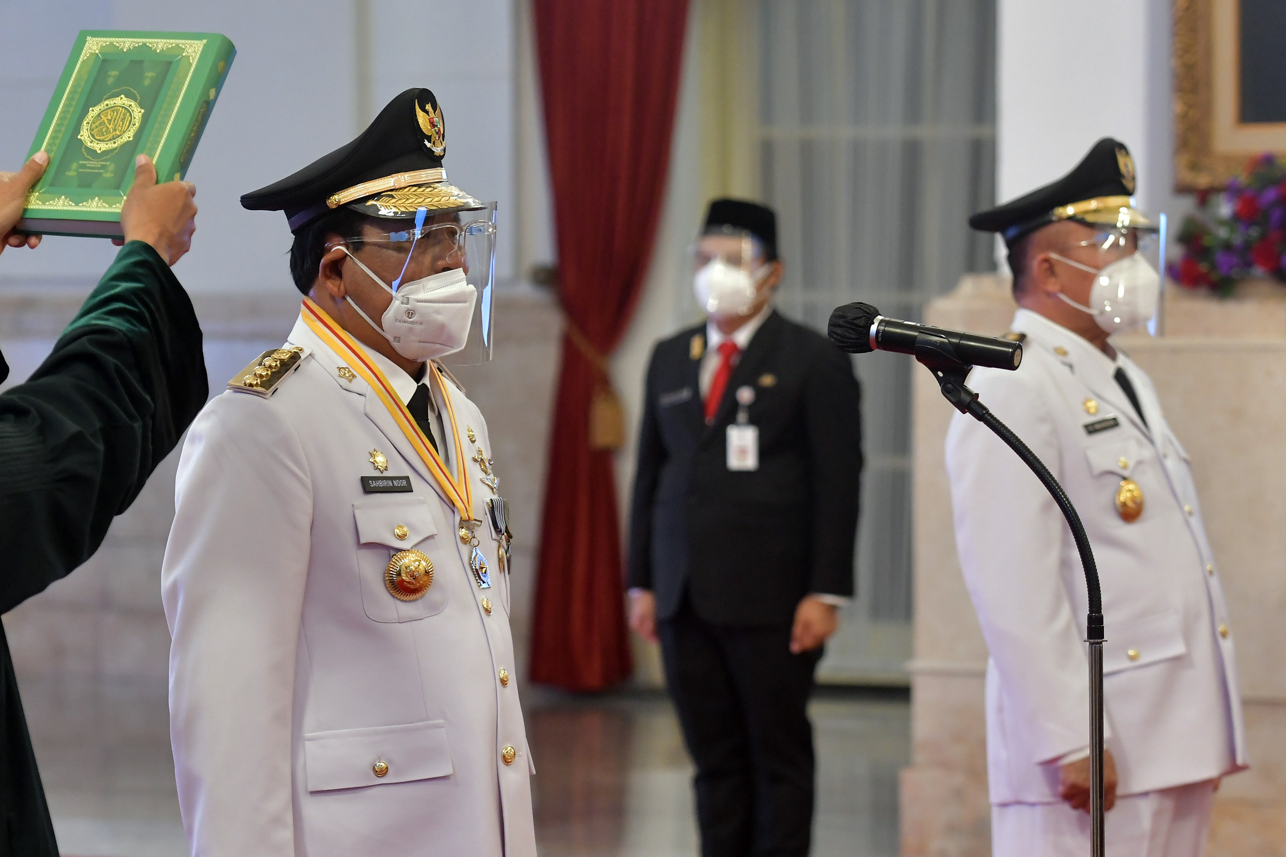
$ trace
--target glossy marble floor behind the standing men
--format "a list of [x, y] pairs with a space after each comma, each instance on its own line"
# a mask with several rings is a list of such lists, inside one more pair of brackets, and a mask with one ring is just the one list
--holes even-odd
[[[186, 854], [165, 689], [22, 682], [27, 720], [64, 854]], [[628, 693], [525, 696], [543, 857], [697, 853], [691, 766], [667, 700]], [[908, 762], [905, 693], [822, 690], [813, 854], [898, 853], [898, 771]]]

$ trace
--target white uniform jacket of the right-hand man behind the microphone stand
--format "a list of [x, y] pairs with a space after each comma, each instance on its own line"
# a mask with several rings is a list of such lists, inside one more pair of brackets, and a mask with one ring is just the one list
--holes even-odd
[[[1016, 371], [976, 369], [984, 405], [1040, 457], [1080, 513], [1102, 582], [1103, 699], [1119, 794], [1208, 780], [1246, 764], [1233, 636], [1188, 456], [1147, 375], [1019, 310]], [[1062, 514], [1025, 464], [972, 416], [946, 436], [955, 542], [990, 651], [992, 803], [1058, 800], [1057, 762], [1089, 744], [1087, 595]], [[1142, 515], [1116, 510], [1123, 479]]]

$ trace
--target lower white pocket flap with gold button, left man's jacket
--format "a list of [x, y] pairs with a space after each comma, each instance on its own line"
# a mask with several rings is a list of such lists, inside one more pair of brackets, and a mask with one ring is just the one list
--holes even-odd
[[[383, 762], [383, 776], [377, 776]], [[303, 736], [309, 791], [356, 789], [386, 782], [409, 782], [450, 776], [451, 748], [446, 721], [403, 726], [343, 729]]]

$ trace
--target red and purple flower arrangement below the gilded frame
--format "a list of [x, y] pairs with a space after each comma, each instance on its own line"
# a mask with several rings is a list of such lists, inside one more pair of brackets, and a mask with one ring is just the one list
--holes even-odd
[[1169, 274], [1186, 288], [1227, 297], [1247, 276], [1286, 283], [1286, 166], [1265, 153], [1251, 158], [1223, 193], [1199, 193], [1179, 244], [1183, 257]]

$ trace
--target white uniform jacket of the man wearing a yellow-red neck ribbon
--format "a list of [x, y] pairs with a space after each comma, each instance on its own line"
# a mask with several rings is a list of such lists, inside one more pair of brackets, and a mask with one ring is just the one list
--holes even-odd
[[[477, 438], [460, 437], [486, 522], [480, 588], [458, 511], [377, 394], [302, 320], [289, 344], [305, 349], [297, 371], [271, 398], [216, 397], [179, 464], [162, 578], [192, 853], [534, 856], [509, 581], [476, 460], [486, 421], [451, 382], [431, 387], [455, 411], [436, 438], [451, 473], [455, 432]], [[415, 382], [365, 353], [409, 400]], [[379, 475], [413, 491], [364, 493]], [[433, 563], [414, 601], [383, 578], [408, 549]]]

